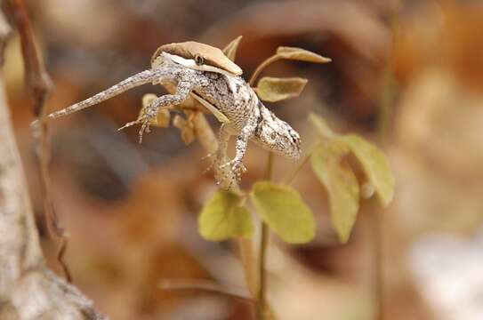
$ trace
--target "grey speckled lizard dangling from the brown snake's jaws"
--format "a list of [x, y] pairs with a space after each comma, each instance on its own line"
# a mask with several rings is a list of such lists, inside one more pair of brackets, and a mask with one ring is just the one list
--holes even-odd
[[[167, 55], [163, 54], [153, 61], [152, 69], [130, 76], [89, 99], [54, 112], [47, 117], [67, 116], [80, 109], [108, 100], [135, 86], [147, 83], [171, 83], [176, 85], [177, 90], [173, 94], [166, 94], [153, 100], [146, 108], [145, 116], [141, 121], [134, 122], [141, 123], [140, 140], [143, 132], [149, 131], [149, 121], [156, 118], [159, 108], [179, 105], [189, 97], [191, 92], [195, 92], [229, 119], [229, 124], [221, 125], [220, 148], [216, 156], [218, 169], [229, 165], [239, 177], [248, 140], [253, 140], [262, 148], [283, 156], [292, 158], [300, 156], [299, 134], [263, 106], [254, 90], [241, 76], [188, 68], [170, 60]], [[227, 146], [231, 135], [237, 136], [236, 154], [231, 161], [223, 164], [222, 161], [228, 158]]]

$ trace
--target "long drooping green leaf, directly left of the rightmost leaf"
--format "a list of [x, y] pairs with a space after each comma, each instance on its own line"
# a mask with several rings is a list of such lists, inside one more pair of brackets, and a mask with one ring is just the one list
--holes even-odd
[[349, 240], [359, 208], [358, 180], [342, 161], [349, 153], [343, 142], [330, 140], [320, 144], [310, 157], [313, 171], [326, 187], [332, 224], [342, 243]]

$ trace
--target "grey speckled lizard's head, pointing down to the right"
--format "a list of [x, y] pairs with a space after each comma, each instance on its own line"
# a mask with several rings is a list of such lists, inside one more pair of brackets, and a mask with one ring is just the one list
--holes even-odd
[[255, 131], [255, 142], [262, 148], [286, 157], [298, 159], [301, 156], [301, 139], [289, 124], [278, 119], [267, 108], [261, 108], [262, 120]]

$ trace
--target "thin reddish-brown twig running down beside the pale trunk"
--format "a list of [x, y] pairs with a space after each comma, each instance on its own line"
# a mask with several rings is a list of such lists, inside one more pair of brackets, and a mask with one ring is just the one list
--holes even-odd
[[50, 140], [49, 128], [44, 122], [45, 102], [52, 91], [52, 80], [45, 71], [44, 60], [37, 49], [31, 22], [28, 18], [27, 7], [23, 0], [7, 0], [7, 8], [12, 16], [13, 23], [20, 34], [21, 52], [25, 65], [25, 79], [28, 92], [34, 99], [33, 113], [39, 119], [39, 126], [34, 127], [36, 140], [36, 164], [40, 180], [41, 194], [44, 199], [44, 214], [47, 229], [52, 238], [60, 241], [57, 260], [68, 280], [72, 281], [68, 266], [63, 260], [68, 245], [68, 236], [61, 227], [52, 204], [51, 183], [49, 177]]

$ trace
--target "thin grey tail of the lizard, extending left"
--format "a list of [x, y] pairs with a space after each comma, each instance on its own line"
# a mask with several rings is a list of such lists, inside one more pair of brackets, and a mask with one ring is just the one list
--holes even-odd
[[149, 82], [155, 80], [156, 76], [156, 72], [152, 70], [144, 70], [138, 74], [126, 78], [118, 84], [111, 86], [109, 89], [106, 89], [103, 92], [97, 93], [89, 99], [77, 102], [76, 104], [68, 108], [63, 108], [59, 111], [53, 112], [46, 117], [53, 119], [59, 116], [68, 116], [74, 112], [82, 110], [83, 108], [89, 108], [102, 101], [108, 100], [109, 98], [112, 98], [119, 93], [132, 89], [133, 87], [139, 86], [141, 84], [148, 84]]

